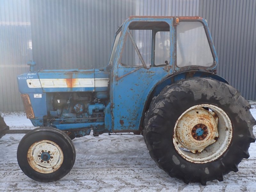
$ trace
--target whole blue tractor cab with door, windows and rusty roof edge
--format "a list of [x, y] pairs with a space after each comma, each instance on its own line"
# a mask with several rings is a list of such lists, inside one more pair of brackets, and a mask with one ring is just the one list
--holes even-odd
[[212, 76], [216, 64], [204, 19], [129, 17], [116, 32], [109, 60], [110, 127], [140, 134], [149, 102], [164, 86], [187, 76]]

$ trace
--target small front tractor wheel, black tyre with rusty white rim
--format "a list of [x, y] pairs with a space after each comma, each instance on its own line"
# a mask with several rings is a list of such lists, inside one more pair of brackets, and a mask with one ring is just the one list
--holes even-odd
[[40, 127], [28, 132], [17, 150], [20, 169], [31, 179], [52, 182], [72, 169], [76, 150], [71, 139], [62, 131]]

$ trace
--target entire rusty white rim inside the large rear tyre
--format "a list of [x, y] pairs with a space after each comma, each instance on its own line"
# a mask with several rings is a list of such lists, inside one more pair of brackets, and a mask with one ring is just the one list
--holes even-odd
[[[203, 107], [211, 110], [207, 111]], [[198, 129], [200, 123], [205, 125], [206, 131], [203, 126], [204, 133], [198, 139], [197, 135], [194, 135], [194, 130], [195, 127]], [[202, 104], [189, 108], [178, 118], [172, 141], [182, 158], [192, 163], [203, 164], [218, 159], [227, 151], [232, 133], [232, 124], [225, 111], [215, 105]], [[201, 138], [203, 136], [204, 139]]]

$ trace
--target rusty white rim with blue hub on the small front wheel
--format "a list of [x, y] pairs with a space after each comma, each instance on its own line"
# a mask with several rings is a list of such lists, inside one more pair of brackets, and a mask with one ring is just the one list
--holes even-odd
[[63, 152], [59, 145], [50, 140], [33, 143], [27, 153], [28, 164], [37, 172], [52, 173], [63, 163]]

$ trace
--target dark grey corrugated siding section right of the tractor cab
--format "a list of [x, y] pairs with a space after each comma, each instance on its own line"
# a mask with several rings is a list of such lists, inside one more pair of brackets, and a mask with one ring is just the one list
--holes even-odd
[[217, 73], [247, 100], [256, 99], [254, 0], [200, 0], [199, 15], [208, 21], [217, 50]]

